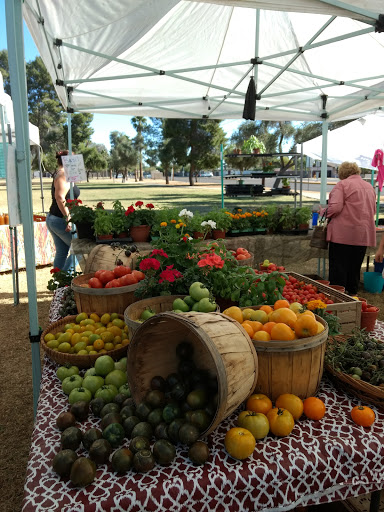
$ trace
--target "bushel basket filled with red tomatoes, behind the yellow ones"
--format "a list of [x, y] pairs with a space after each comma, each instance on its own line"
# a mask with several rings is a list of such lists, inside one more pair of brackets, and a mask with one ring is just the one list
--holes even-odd
[[134, 302], [134, 293], [138, 284], [121, 286], [120, 288], [85, 288], [94, 273], [82, 274], [72, 279], [71, 288], [75, 297], [77, 311], [79, 313], [93, 313], [103, 311], [104, 313], [124, 314], [127, 306]]

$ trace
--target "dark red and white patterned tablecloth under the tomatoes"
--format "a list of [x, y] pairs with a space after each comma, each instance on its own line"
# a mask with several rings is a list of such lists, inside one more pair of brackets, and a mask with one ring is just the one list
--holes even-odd
[[[384, 339], [384, 324], [378, 322], [372, 334]], [[374, 425], [355, 425], [349, 413], [359, 400], [337, 390], [327, 378], [318, 393], [326, 404], [325, 417], [299, 421], [288, 437], [268, 435], [244, 461], [232, 459], [223, 447], [237, 411], [209, 436], [211, 456], [202, 467], [193, 466], [186, 448], [179, 445], [169, 467], [117, 475], [105, 464], [98, 467], [91, 485], [75, 488], [51, 468], [60, 445], [55, 420], [68, 408], [56, 368], [45, 360], [23, 512], [286, 511], [384, 488], [384, 413], [373, 407]], [[98, 426], [98, 421], [90, 416], [82, 431]]]

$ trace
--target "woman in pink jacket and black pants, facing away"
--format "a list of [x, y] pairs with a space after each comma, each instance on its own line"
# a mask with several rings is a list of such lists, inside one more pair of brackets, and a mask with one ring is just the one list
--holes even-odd
[[343, 162], [327, 206], [329, 280], [356, 295], [365, 250], [376, 246], [376, 194], [357, 164]]

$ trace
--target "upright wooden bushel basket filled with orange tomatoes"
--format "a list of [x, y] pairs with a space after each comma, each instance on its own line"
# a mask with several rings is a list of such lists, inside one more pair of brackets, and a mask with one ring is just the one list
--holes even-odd
[[253, 341], [259, 361], [255, 393], [272, 401], [283, 393], [304, 399], [314, 396], [324, 369], [328, 324], [316, 315], [324, 331], [309, 338], [293, 341]]

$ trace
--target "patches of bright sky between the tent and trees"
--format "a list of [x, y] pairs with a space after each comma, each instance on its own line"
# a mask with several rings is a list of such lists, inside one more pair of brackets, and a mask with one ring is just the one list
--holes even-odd
[[[7, 48], [7, 34], [5, 24], [5, 0], [0, 0], [0, 50]], [[33, 60], [39, 51], [24, 23], [24, 52], [25, 60], [27, 62]], [[241, 121], [228, 119], [221, 123], [224, 131], [231, 134]], [[94, 114], [92, 128], [94, 133], [92, 135], [93, 142], [104, 144], [108, 149], [110, 148], [109, 134], [117, 130], [118, 132], [126, 133], [129, 137], [136, 135], [135, 130], [132, 128], [130, 116], [117, 116], [113, 114]]]

